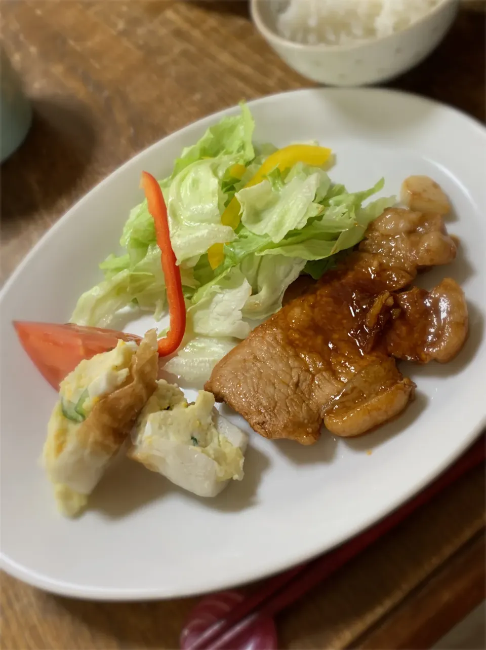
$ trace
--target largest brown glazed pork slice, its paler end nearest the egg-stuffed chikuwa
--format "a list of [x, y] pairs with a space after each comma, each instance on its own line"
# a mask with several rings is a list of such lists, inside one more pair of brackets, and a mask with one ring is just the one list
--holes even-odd
[[216, 365], [206, 389], [259, 434], [304, 445], [318, 439], [323, 419], [337, 435], [359, 435], [398, 415], [414, 385], [386, 349], [373, 349], [394, 305], [389, 269], [380, 282], [385, 291], [375, 295], [365, 291], [366, 279], [379, 270], [364, 263], [357, 255], [355, 266], [327, 274], [255, 328]]

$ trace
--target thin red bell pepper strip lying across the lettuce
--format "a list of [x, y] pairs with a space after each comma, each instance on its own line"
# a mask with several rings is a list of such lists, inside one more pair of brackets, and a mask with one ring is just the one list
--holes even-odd
[[166, 281], [170, 328], [166, 337], [159, 340], [159, 356], [164, 357], [175, 352], [182, 343], [186, 330], [186, 305], [182, 291], [181, 271], [175, 263], [175, 255], [170, 242], [167, 208], [162, 190], [155, 178], [147, 172], [142, 172], [141, 185], [147, 198], [149, 213], [153, 216], [155, 223], [155, 235], [161, 252], [162, 270]]

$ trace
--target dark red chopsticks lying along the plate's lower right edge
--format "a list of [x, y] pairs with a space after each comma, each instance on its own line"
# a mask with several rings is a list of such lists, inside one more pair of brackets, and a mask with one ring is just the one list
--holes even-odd
[[187, 650], [221, 650], [231, 647], [231, 642], [259, 619], [274, 616], [294, 603], [314, 586], [337, 571], [394, 526], [406, 519], [416, 508], [437, 496], [468, 470], [479, 465], [486, 457], [485, 436], [482, 435], [450, 469], [426, 487], [416, 497], [379, 521], [372, 528], [350, 539], [337, 549], [270, 578], [264, 587], [249, 595], [229, 614], [216, 621]]

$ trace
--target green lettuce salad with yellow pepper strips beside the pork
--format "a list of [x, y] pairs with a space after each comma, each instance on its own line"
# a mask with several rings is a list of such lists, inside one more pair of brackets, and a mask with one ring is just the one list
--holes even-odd
[[[363, 205], [383, 179], [361, 192], [335, 184], [329, 149], [253, 142], [246, 105], [183, 150], [160, 182], [187, 308], [183, 348], [166, 365], [189, 382], [244, 339], [251, 322], [281, 307], [300, 274], [319, 278], [352, 248], [394, 197]], [[164, 274], [153, 218], [143, 201], [120, 239], [122, 254], [100, 265], [105, 279], [79, 298], [71, 321], [106, 327], [123, 307], [166, 314]], [[250, 321], [250, 322], [249, 322]]]

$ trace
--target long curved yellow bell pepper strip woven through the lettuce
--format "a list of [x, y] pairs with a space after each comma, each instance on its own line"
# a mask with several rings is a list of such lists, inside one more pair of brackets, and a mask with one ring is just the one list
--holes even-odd
[[[314, 146], [313, 144], [290, 144], [288, 147], [278, 149], [268, 156], [253, 178], [246, 183], [245, 187], [251, 187], [252, 185], [261, 183], [266, 175], [270, 174], [276, 168], [281, 172], [285, 172], [288, 168], [293, 167], [296, 162], [304, 162], [305, 164], [320, 167], [329, 160], [331, 153], [331, 149]], [[231, 226], [233, 230], [238, 227], [240, 223], [240, 203], [236, 196], [233, 196], [231, 201], [229, 201], [224, 213], [221, 215], [221, 223], [223, 226]], [[213, 244], [209, 248], [207, 254], [209, 264], [213, 270], [224, 261], [223, 246], [224, 244]]]

